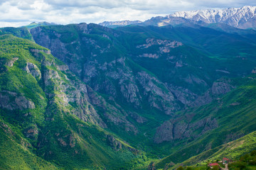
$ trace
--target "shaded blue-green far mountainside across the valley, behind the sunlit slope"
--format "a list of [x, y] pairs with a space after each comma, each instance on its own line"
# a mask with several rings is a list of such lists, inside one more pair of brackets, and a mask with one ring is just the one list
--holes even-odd
[[[155, 140], [155, 133], [160, 124], [176, 118], [176, 111], [228, 93], [235, 86], [221, 77], [245, 76], [256, 65], [253, 38], [200, 26], [113, 30], [80, 23], [38, 27], [31, 33], [121, 111], [122, 119], [101, 114], [109, 130], [161, 157], [175, 142], [159, 147], [163, 141]], [[212, 119], [198, 123], [198, 130], [215, 128]], [[210, 128], [208, 123], [213, 123]]]

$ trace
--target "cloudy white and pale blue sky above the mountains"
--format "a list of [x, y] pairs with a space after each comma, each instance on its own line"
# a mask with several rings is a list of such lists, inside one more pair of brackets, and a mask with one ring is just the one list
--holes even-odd
[[176, 11], [256, 6], [255, 0], [0, 0], [0, 28], [32, 22], [101, 23], [166, 16]]

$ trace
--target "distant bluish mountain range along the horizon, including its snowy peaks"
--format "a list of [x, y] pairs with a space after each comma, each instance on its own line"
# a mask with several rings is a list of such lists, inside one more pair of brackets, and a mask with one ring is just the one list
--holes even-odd
[[101, 26], [119, 27], [128, 25], [140, 26], [166, 26], [181, 23], [225, 23], [235, 28], [256, 28], [256, 6], [243, 6], [241, 8], [206, 9], [197, 11], [178, 11], [169, 16], [156, 16], [144, 22], [116, 21], [103, 22]]

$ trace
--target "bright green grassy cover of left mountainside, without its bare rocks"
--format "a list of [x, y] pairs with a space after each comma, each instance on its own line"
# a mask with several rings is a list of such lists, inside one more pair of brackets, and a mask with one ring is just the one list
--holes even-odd
[[[37, 57], [33, 56], [29, 49], [47, 49], [29, 40], [2, 35], [0, 43], [1, 92], [15, 92], [16, 96], [25, 96], [35, 103], [35, 108], [31, 109], [9, 111], [1, 108], [0, 110], [1, 121], [16, 134], [16, 140], [13, 140], [10, 134], [1, 131], [0, 152], [3, 153], [1, 154], [3, 169], [16, 169], [15, 166], [21, 166], [21, 169], [53, 169], [55, 168], [53, 164], [65, 169], [95, 169], [95, 167], [119, 169], [131, 166], [128, 162], [135, 156], [129, 151], [129, 145], [125, 145], [119, 151], [112, 149], [107, 142], [108, 133], [105, 130], [83, 122], [70, 114], [70, 111], [75, 109], [73, 106], [63, 105], [62, 98], [58, 97], [58, 94], [63, 93], [58, 84], [72, 85], [65, 79], [65, 73], [56, 69], [55, 64], [61, 64], [60, 61], [44, 52], [39, 52]], [[6, 63], [14, 57], [18, 57], [14, 66], [6, 66]], [[46, 66], [41, 64], [42, 60], [51, 62], [55, 60], [55, 64]], [[34, 78], [23, 70], [26, 62], [36, 64], [42, 74], [50, 70], [58, 72], [59, 79], [49, 79], [50, 85], [46, 86], [42, 79]], [[38, 130], [38, 133], [28, 137], [26, 135], [28, 129]], [[14, 155], [17, 155], [20, 161], [10, 159]]]

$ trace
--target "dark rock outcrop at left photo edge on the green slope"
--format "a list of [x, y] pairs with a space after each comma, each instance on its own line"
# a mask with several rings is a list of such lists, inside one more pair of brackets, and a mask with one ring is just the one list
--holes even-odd
[[24, 110], [28, 108], [35, 108], [33, 101], [28, 100], [26, 97], [18, 95], [12, 91], [1, 91], [0, 93], [0, 107], [6, 108], [10, 111], [16, 109]]

